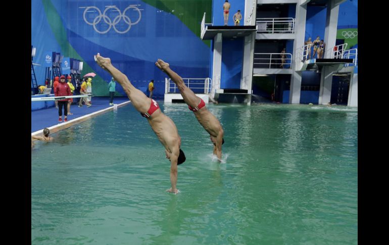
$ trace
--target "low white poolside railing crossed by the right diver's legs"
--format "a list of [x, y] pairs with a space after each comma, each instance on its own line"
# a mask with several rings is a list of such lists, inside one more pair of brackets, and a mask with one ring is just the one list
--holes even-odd
[[[211, 93], [212, 79], [206, 78], [182, 78], [185, 85], [194, 93]], [[204, 86], [203, 86], [204, 85]], [[179, 93], [177, 85], [169, 78], [165, 78], [165, 93]]]

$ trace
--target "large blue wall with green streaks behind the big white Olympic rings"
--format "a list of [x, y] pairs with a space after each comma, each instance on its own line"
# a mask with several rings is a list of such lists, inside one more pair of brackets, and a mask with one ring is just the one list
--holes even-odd
[[[141, 10], [140, 21], [131, 25], [124, 34], [115, 31], [113, 27], [107, 33], [98, 33], [85, 22], [85, 7], [94, 6], [104, 12], [106, 6], [111, 5], [117, 6], [122, 13], [128, 6], [136, 5]], [[157, 98], [164, 96], [166, 77], [155, 66], [157, 59], [170, 63], [171, 68], [182, 77], [209, 76], [210, 47], [201, 40], [200, 33], [193, 33], [176, 15], [143, 1], [32, 0], [31, 6], [31, 44], [37, 48], [34, 63], [43, 64], [45, 51], [60, 52], [70, 58], [79, 56], [84, 62], [84, 72], [85, 67], [89, 67], [86, 72], [98, 74], [94, 80], [108, 83], [111, 75], [93, 60], [93, 55], [99, 52], [111, 58], [113, 64], [128, 76], [135, 87], [146, 87], [154, 79], [154, 94]], [[193, 16], [187, 18], [193, 17], [193, 21], [200, 25], [201, 12], [205, 11], [197, 12], [199, 20]], [[92, 22], [97, 13], [95, 9], [85, 12], [86, 20]], [[118, 16], [113, 9], [108, 10], [107, 15], [111, 20]], [[133, 9], [127, 11], [126, 15], [132, 23], [139, 18], [138, 12]], [[108, 27], [103, 21], [95, 26], [100, 31]], [[127, 27], [123, 20], [116, 26], [118, 31], [125, 31]], [[43, 83], [44, 67], [36, 67], [35, 72], [38, 84]], [[103, 89], [107, 90], [105, 87]], [[125, 94], [121, 86], [117, 86], [117, 91]]]

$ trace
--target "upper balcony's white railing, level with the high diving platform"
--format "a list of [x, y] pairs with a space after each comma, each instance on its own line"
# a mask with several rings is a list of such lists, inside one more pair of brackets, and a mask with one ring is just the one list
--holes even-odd
[[257, 33], [295, 33], [295, 19], [257, 18]]

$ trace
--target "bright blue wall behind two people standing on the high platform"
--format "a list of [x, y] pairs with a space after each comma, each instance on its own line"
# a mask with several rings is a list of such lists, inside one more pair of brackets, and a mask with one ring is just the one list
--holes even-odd
[[[223, 15], [223, 4], [225, 0], [214, 0], [212, 2], [212, 23], [214, 26], [223, 26], [224, 25], [224, 15]], [[233, 26], [234, 22], [232, 17], [234, 14], [240, 10], [242, 19], [240, 25], [244, 25], [245, 20], [245, 1], [244, 0], [228, 0], [228, 3], [231, 4], [229, 16], [228, 16], [228, 25]], [[208, 14], [208, 13], [207, 13]]]

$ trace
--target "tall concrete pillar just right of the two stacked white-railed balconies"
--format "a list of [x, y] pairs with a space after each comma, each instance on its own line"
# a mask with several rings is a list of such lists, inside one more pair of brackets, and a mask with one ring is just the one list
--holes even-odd
[[307, 5], [296, 5], [295, 41], [293, 43], [293, 73], [290, 81], [289, 104], [300, 104], [301, 72], [297, 72], [299, 48], [304, 45], [305, 22], [307, 18]]

